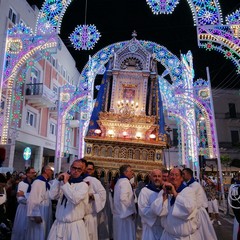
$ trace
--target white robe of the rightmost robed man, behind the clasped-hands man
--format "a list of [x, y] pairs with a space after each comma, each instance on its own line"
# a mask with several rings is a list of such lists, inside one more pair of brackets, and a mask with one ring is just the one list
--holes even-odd
[[203, 187], [198, 182], [193, 182], [188, 187], [190, 187], [196, 194], [200, 221], [199, 232], [202, 239], [217, 240], [215, 230], [206, 211], [206, 208], [208, 207], [208, 199]]

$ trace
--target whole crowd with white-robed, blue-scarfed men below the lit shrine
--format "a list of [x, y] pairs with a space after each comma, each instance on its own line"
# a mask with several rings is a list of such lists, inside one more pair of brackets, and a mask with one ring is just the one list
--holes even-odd
[[33, 167], [10, 178], [0, 174], [0, 239], [217, 239], [213, 223], [221, 222], [210, 178], [202, 186], [190, 168], [153, 169], [135, 184], [131, 166], [122, 165], [105, 186], [94, 172], [82, 158], [54, 179], [48, 165], [39, 176]]

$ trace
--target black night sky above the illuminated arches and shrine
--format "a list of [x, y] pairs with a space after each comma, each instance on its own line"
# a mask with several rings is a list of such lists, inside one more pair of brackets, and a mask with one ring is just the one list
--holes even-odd
[[[41, 8], [43, 0], [28, 0]], [[240, 8], [239, 0], [219, 0], [223, 18]], [[187, 0], [180, 0], [170, 15], [154, 15], [145, 0], [73, 0], [64, 15], [61, 38], [76, 60], [79, 71], [100, 49], [120, 41], [130, 40], [133, 30], [137, 39], [156, 42], [177, 57], [192, 51], [195, 79], [206, 79], [206, 67], [210, 69], [212, 86], [240, 88], [240, 76], [232, 62], [216, 51], [206, 51], [197, 46], [196, 28]], [[77, 25], [94, 24], [101, 38], [90, 51], [77, 51], [68, 39]]]

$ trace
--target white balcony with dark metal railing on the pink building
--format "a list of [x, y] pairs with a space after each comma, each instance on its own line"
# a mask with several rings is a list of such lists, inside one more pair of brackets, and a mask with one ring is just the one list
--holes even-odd
[[57, 95], [43, 83], [26, 84], [25, 98], [36, 108], [56, 107]]

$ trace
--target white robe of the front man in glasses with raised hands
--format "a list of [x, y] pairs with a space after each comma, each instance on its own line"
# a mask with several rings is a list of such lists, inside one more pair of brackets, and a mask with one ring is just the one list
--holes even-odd
[[[88, 185], [84, 182], [63, 184], [54, 180], [50, 189], [50, 197], [58, 200], [56, 220], [54, 221], [48, 240], [89, 240], [83, 217], [88, 204]], [[63, 199], [63, 194], [65, 199]], [[67, 200], [67, 201], [66, 201]]]

